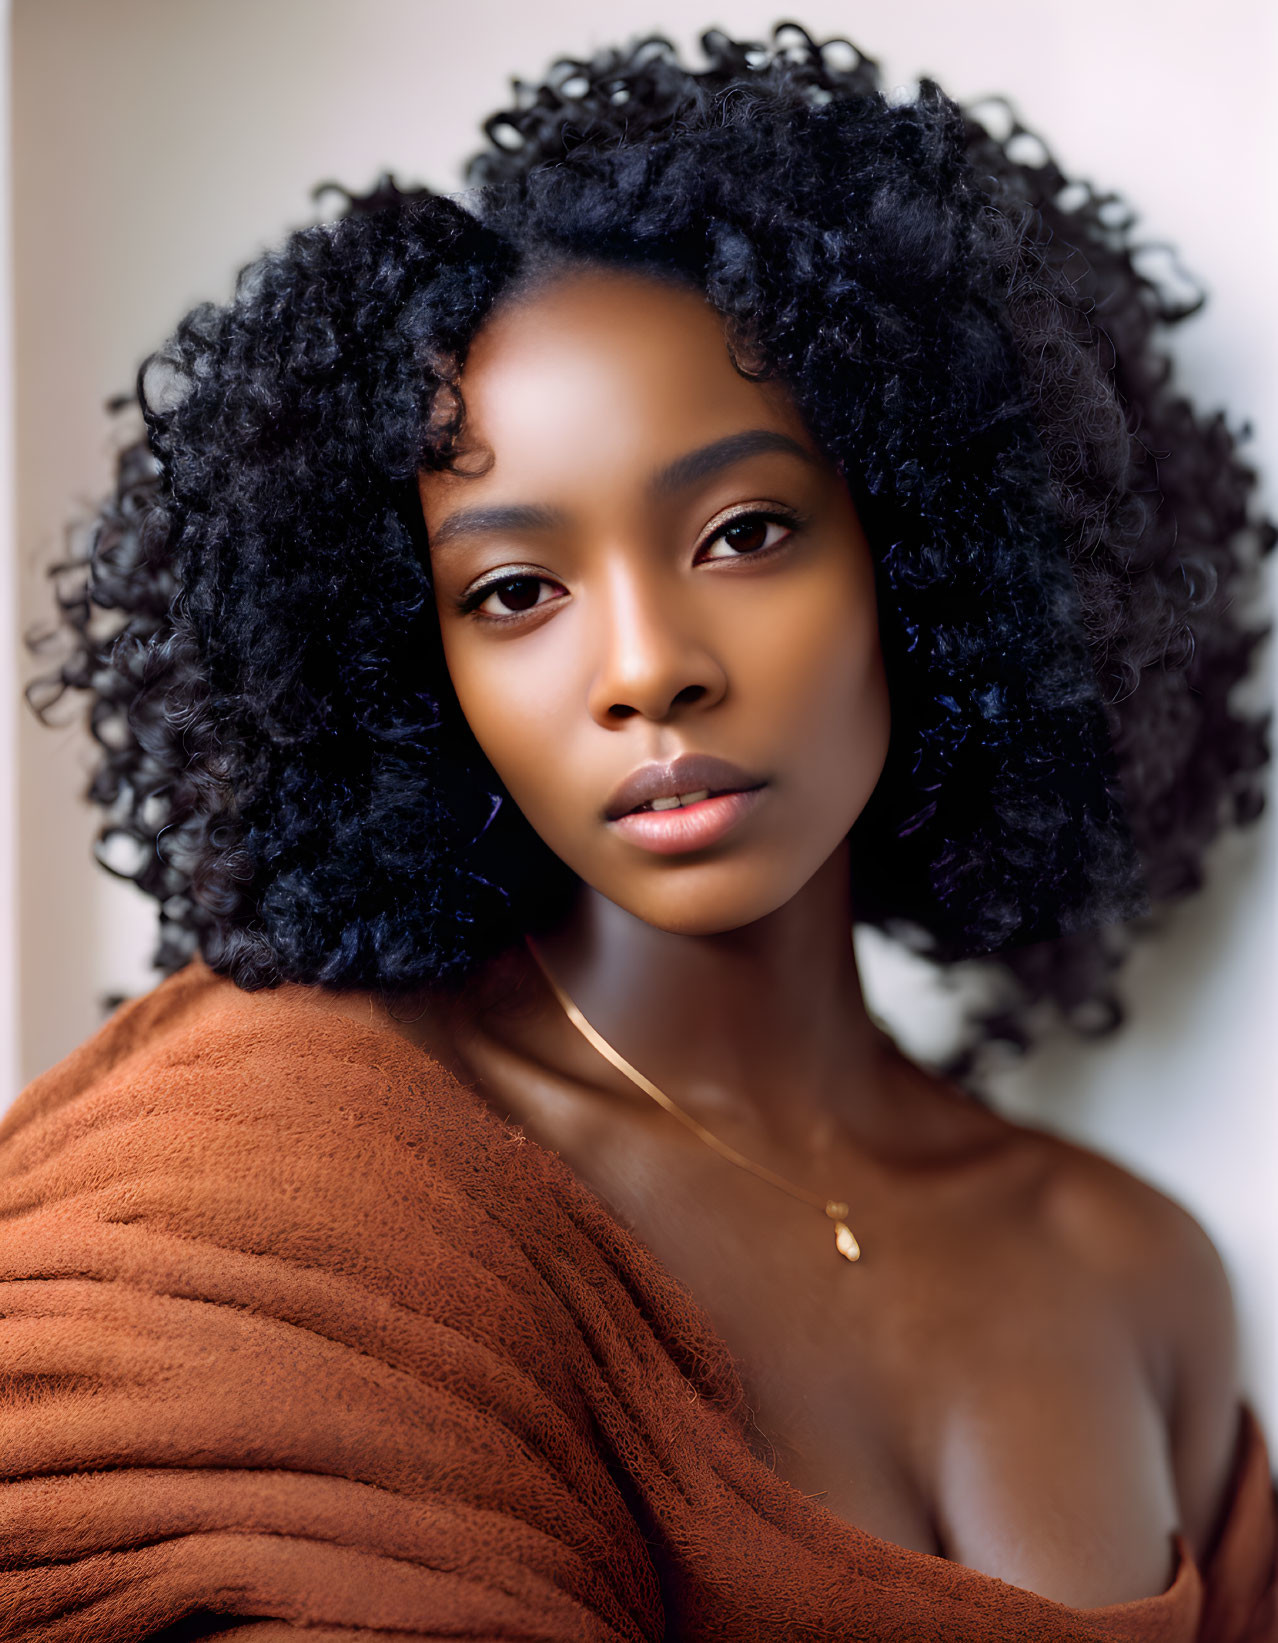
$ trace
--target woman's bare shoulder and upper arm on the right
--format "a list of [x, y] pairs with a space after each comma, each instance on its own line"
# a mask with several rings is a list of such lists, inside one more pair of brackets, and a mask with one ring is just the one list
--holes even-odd
[[1202, 1556], [1225, 1507], [1242, 1395], [1224, 1263], [1175, 1198], [1086, 1147], [1055, 1135], [1043, 1145], [1045, 1214], [1130, 1319], [1166, 1420], [1181, 1528]]

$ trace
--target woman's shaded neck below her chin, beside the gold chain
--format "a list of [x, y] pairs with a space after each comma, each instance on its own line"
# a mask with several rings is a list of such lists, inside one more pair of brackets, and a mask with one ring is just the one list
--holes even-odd
[[807, 1153], [856, 1127], [859, 1107], [869, 1117], [885, 1038], [853, 951], [846, 846], [739, 930], [657, 930], [583, 889], [537, 945], [590, 1024], [703, 1122]]

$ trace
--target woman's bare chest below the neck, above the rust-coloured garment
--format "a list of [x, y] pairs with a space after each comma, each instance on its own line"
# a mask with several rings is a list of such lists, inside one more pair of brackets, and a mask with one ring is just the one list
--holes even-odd
[[862, 1181], [853, 1265], [820, 1209], [696, 1150], [596, 1144], [580, 1168], [710, 1318], [785, 1482], [1074, 1607], [1166, 1589], [1178, 1508], [1140, 1342], [1023, 1181]]

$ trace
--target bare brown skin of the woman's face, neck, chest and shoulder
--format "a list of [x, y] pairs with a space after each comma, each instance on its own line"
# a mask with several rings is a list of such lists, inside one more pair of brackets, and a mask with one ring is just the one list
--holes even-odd
[[[526, 955], [402, 1030], [692, 1290], [780, 1475], [885, 1539], [1078, 1607], [1163, 1590], [1171, 1530], [1211, 1535], [1232, 1365], [1168, 1332], [1181, 1211], [964, 1099], [866, 1010], [846, 835], [890, 713], [841, 478], [784, 388], [734, 370], [703, 299], [639, 274], [573, 271], [501, 306], [460, 386], [460, 472], [421, 478], [435, 598], [480, 746], [582, 879], [547, 960], [721, 1140], [844, 1198], [867, 1259], [848, 1268], [820, 1213], [603, 1065]], [[777, 444], [700, 455], [751, 434]], [[687, 483], [662, 485], [680, 463]], [[742, 513], [772, 518], [716, 534]], [[706, 849], [644, 849], [609, 795], [683, 752], [761, 794]], [[1196, 1245], [1186, 1260], [1204, 1263]], [[1189, 1424], [1186, 1377], [1207, 1411]]]

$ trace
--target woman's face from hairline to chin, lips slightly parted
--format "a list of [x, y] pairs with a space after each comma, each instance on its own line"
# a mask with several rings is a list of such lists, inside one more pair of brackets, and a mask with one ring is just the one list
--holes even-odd
[[[421, 476], [462, 711], [536, 831], [662, 930], [733, 930], [830, 858], [887, 754], [869, 550], [715, 311], [582, 269], [499, 309], [460, 473]], [[678, 802], [675, 802], [678, 800]]]

